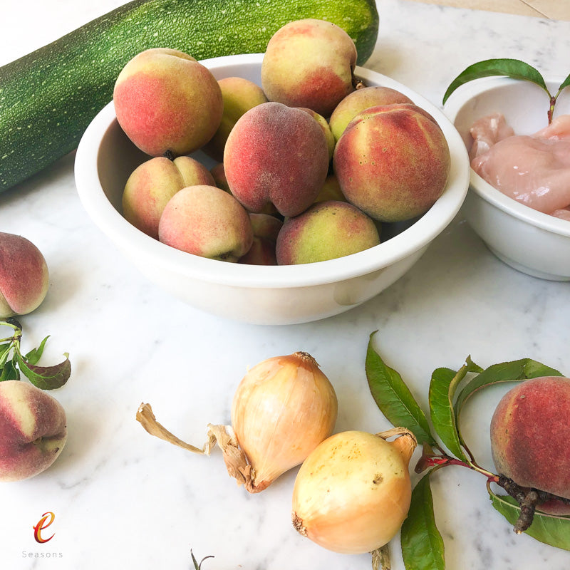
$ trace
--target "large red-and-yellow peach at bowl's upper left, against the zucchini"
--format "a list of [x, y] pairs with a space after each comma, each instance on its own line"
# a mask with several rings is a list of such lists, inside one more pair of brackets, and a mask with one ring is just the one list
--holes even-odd
[[216, 78], [174, 49], [148, 49], [128, 61], [115, 81], [113, 101], [125, 134], [150, 156], [190, 154], [222, 120]]

